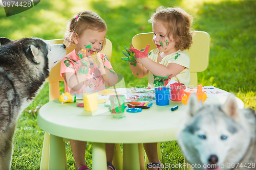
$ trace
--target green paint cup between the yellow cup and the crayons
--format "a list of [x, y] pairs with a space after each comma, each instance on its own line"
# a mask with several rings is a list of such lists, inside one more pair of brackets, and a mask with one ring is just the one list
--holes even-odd
[[114, 118], [123, 117], [125, 96], [115, 94], [110, 96], [110, 110], [115, 114]]

